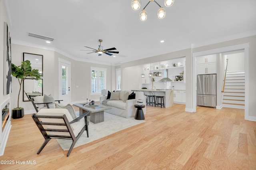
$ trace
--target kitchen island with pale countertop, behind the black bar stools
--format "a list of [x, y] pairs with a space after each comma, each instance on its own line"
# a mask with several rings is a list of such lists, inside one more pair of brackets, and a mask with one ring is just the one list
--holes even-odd
[[173, 106], [173, 90], [151, 90], [151, 89], [136, 89], [132, 91], [143, 91], [144, 95], [155, 95], [155, 96], [164, 96], [164, 107]]

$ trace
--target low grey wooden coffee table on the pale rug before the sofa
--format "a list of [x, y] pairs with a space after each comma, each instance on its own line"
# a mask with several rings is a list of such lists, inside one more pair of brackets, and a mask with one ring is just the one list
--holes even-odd
[[109, 106], [98, 105], [95, 107], [86, 107], [86, 103], [76, 103], [74, 106], [79, 107], [79, 115], [82, 115], [86, 111], [90, 112], [90, 121], [92, 123], [100, 123], [104, 121], [104, 111], [111, 109]]

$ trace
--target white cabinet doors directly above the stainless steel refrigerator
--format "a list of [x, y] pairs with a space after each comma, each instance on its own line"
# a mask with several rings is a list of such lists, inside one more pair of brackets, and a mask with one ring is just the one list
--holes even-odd
[[216, 74], [216, 55], [197, 57], [197, 74]]

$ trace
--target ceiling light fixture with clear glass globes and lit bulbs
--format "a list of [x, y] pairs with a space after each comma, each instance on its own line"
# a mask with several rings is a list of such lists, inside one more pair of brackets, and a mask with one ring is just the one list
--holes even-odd
[[[172, 6], [174, 4], [175, 0], [164, 0], [164, 5], [165, 6]], [[156, 2], [155, 0], [150, 0], [148, 2], [148, 4], [150, 2]], [[148, 4], [146, 4], [146, 6], [148, 6]], [[157, 16], [158, 18], [162, 19], [166, 16], [166, 10], [164, 8], [162, 8], [162, 6], [160, 6], [157, 2], [156, 4], [160, 7], [160, 9], [157, 11]], [[140, 9], [140, 5], [141, 2], [140, 0], [132, 0], [131, 6], [133, 10], [138, 10]], [[145, 11], [146, 6], [143, 8], [143, 10], [140, 12], [140, 20], [145, 21], [148, 18], [148, 13]]]

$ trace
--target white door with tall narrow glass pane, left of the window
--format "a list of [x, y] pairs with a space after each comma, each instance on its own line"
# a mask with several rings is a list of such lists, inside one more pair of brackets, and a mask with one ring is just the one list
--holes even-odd
[[67, 105], [70, 103], [70, 62], [61, 60], [59, 61], [59, 98], [62, 105]]

